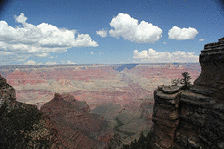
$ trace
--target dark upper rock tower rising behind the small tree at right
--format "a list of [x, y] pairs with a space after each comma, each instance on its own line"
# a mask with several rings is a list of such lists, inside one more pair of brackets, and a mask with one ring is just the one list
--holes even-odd
[[202, 71], [198, 79], [195, 80], [195, 85], [223, 89], [224, 46], [220, 41], [222, 40], [216, 43], [206, 44], [204, 50], [201, 51], [200, 64]]

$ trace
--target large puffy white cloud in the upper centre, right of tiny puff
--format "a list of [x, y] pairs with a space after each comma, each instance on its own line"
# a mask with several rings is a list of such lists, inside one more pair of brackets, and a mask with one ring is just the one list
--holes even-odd
[[146, 21], [139, 24], [137, 19], [129, 14], [119, 13], [110, 22], [114, 29], [109, 31], [111, 37], [124, 39], [136, 43], [154, 43], [162, 37], [162, 29]]

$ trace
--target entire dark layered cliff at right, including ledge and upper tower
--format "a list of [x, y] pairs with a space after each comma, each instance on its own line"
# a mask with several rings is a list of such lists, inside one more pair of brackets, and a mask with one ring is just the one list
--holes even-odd
[[162, 148], [224, 149], [224, 38], [206, 44], [201, 74], [189, 90], [154, 92], [154, 141]]

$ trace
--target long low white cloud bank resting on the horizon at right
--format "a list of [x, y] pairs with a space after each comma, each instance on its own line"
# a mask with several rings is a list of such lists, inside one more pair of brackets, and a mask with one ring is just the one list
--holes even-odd
[[195, 55], [194, 52], [157, 52], [153, 49], [144, 50], [139, 52], [134, 50], [133, 52], [134, 62], [144, 62], [144, 63], [170, 63], [170, 62], [198, 62], [199, 56]]

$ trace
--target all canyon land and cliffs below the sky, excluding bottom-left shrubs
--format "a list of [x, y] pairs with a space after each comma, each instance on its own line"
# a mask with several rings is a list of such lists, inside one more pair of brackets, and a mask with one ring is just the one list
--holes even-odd
[[146, 148], [151, 134], [156, 148], [223, 149], [223, 43], [206, 44], [200, 65], [2, 66], [1, 118], [5, 108], [39, 109], [47, 120], [39, 136], [57, 132], [51, 148]]

